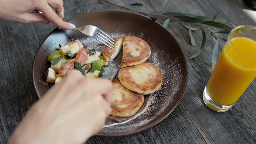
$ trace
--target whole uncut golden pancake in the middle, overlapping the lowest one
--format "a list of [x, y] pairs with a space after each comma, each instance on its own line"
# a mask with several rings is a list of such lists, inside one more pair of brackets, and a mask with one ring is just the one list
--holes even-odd
[[163, 80], [161, 71], [150, 62], [121, 68], [118, 79], [126, 88], [139, 94], [151, 94], [160, 90]]

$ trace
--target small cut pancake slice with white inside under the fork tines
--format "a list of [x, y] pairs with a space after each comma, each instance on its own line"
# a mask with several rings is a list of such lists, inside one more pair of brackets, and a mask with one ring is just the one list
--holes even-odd
[[113, 49], [109, 48], [108, 46], [104, 46], [102, 50], [102, 55], [107, 61], [113, 60], [118, 55], [122, 48], [124, 37], [114, 38], [114, 40], [115, 44]]

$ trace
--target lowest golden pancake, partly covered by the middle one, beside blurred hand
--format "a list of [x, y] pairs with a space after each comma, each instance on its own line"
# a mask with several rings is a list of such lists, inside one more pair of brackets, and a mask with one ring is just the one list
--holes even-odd
[[133, 116], [143, 105], [144, 95], [128, 90], [117, 78], [112, 81], [112, 84], [111, 115], [120, 117]]

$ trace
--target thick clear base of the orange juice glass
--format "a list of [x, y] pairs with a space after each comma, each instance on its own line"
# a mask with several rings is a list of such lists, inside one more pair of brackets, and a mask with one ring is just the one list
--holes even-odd
[[224, 105], [224, 104], [219, 104], [218, 102], [215, 102], [211, 98], [211, 96], [207, 90], [207, 86], [204, 88], [203, 100], [204, 100], [204, 103], [206, 104], [206, 106], [208, 106], [208, 108], [210, 108], [216, 112], [226, 112], [230, 108], [232, 108], [232, 106], [234, 106], [234, 104]]

